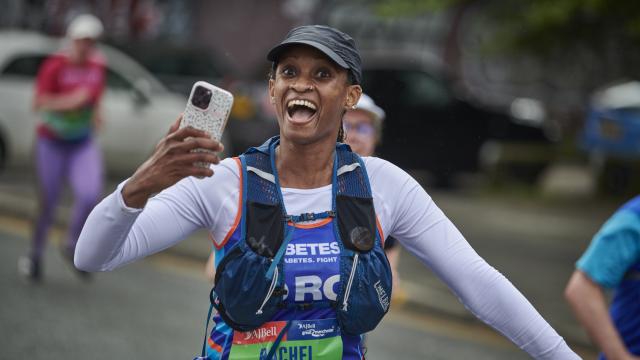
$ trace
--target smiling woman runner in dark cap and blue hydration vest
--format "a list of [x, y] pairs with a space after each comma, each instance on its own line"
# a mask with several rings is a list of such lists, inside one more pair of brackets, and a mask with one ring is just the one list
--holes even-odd
[[[532, 357], [579, 358], [414, 179], [341, 143], [342, 117], [362, 94], [351, 37], [298, 27], [267, 59], [280, 135], [220, 161], [191, 153], [223, 147], [177, 120], [93, 210], [76, 248], [78, 268], [109, 271], [204, 227], [218, 250], [216, 312], [202, 359], [362, 359], [361, 335], [389, 306], [382, 246], [392, 236]], [[214, 165], [193, 165], [200, 161]]]

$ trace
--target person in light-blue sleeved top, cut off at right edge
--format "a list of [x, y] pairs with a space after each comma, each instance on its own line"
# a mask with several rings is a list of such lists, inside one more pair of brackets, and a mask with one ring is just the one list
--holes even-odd
[[[604, 289], [615, 289], [608, 311]], [[565, 297], [602, 351], [600, 359], [640, 360], [640, 196], [593, 237]]]

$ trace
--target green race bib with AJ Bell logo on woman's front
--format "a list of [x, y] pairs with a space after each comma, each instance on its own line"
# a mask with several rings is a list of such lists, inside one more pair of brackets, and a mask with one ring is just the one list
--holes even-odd
[[[266, 359], [286, 321], [272, 321], [260, 328], [234, 331], [230, 360]], [[292, 320], [275, 351], [274, 360], [341, 359], [342, 337], [336, 319]]]

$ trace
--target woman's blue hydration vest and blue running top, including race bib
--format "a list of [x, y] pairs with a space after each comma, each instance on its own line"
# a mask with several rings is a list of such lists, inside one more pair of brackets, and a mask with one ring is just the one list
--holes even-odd
[[217, 314], [202, 358], [361, 359], [360, 335], [391, 299], [364, 163], [337, 144], [332, 209], [291, 215], [275, 167], [278, 144], [274, 137], [240, 156], [241, 221], [216, 253]]

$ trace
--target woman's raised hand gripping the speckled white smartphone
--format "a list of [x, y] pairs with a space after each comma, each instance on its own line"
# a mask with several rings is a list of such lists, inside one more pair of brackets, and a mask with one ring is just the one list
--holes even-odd
[[[213, 175], [210, 167], [197, 164], [218, 164], [220, 158], [217, 153], [224, 151], [224, 146], [202, 130], [180, 127], [181, 122], [182, 116], [123, 187], [122, 197], [127, 206], [142, 208], [151, 196], [185, 177]], [[205, 151], [194, 152], [195, 149]]]

